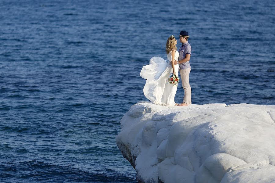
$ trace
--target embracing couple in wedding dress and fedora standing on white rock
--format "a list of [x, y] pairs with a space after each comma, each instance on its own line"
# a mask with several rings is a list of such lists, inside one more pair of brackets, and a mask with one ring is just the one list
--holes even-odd
[[[188, 43], [188, 38], [188, 32], [181, 31], [179, 40], [182, 46], [177, 51], [177, 40], [173, 35], [170, 36], [166, 43], [168, 62], [161, 57], [153, 57], [150, 59], [149, 65], [143, 66], [140, 72], [140, 76], [146, 79], [143, 92], [151, 102], [163, 106], [188, 106], [191, 104], [189, 84], [191, 46]], [[178, 85], [167, 82], [171, 73], [178, 77], [178, 71], [181, 74], [184, 89], [184, 98], [181, 104], [174, 102]]]

